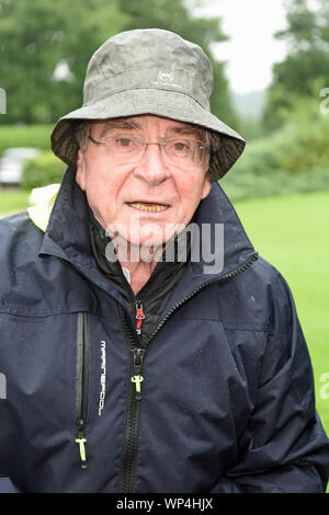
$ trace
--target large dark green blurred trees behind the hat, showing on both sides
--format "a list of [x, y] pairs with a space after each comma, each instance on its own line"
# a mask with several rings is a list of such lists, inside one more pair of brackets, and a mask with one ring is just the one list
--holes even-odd
[[200, 44], [215, 75], [214, 112], [237, 126], [224, 64], [209, 45], [225, 39], [219, 19], [194, 18], [184, 0], [0, 0], [0, 87], [8, 94], [0, 124], [53, 123], [81, 104], [92, 53], [113, 34], [159, 27]]

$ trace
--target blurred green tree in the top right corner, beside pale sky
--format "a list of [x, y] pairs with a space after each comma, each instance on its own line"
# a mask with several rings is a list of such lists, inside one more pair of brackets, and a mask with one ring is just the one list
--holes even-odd
[[315, 83], [329, 85], [328, 0], [287, 0], [286, 8], [287, 27], [275, 36], [286, 39], [291, 52], [273, 67], [263, 114], [263, 126], [270, 131], [284, 123], [296, 96], [314, 95]]

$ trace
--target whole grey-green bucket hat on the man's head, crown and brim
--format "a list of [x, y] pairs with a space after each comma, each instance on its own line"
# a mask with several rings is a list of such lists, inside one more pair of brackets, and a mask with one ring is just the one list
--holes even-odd
[[76, 129], [81, 122], [154, 114], [213, 131], [209, 175], [216, 181], [240, 157], [246, 142], [211, 113], [212, 91], [212, 66], [198, 45], [160, 28], [123, 32], [91, 57], [83, 105], [59, 118], [52, 149], [75, 170]]

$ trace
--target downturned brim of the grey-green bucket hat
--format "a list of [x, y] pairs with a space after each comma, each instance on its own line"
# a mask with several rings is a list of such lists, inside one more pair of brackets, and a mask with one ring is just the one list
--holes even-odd
[[234, 129], [202, 107], [192, 96], [167, 89], [140, 88], [113, 93], [63, 116], [52, 134], [52, 149], [70, 168], [76, 169], [78, 144], [75, 126], [82, 121], [154, 114], [218, 133], [219, 145], [209, 160], [212, 181], [219, 180], [241, 156], [246, 141]]

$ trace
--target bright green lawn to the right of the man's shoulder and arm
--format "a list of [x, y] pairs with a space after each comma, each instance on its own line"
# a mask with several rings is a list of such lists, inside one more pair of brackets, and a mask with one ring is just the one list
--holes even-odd
[[[329, 435], [329, 191], [235, 203], [254, 248], [287, 281], [314, 367], [317, 409]], [[326, 380], [328, 384], [328, 379]], [[321, 389], [322, 387], [322, 389]]]

